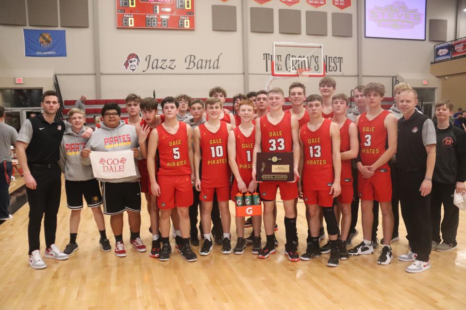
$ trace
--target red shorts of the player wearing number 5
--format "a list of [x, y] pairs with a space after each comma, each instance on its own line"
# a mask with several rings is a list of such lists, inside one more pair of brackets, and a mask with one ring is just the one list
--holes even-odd
[[160, 209], [187, 208], [193, 204], [193, 185], [191, 175], [158, 175], [160, 197], [157, 206]]

